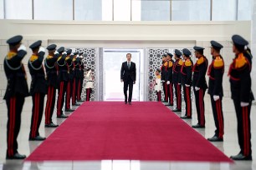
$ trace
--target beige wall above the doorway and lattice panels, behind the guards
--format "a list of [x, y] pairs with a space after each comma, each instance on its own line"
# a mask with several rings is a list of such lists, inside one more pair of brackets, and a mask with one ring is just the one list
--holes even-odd
[[[28, 47], [33, 41], [43, 40], [43, 46], [57, 43], [65, 47], [206, 47], [205, 55], [211, 61], [210, 44], [214, 39], [224, 46], [226, 63], [224, 76], [225, 97], [230, 96], [227, 77], [232, 61], [231, 36], [235, 33], [250, 39], [250, 22], [54, 22], [0, 20], [0, 61], [8, 52], [6, 39], [21, 34]], [[27, 63], [31, 54], [28, 50]], [[3, 62], [0, 64], [0, 96], [6, 87]], [[30, 80], [28, 80], [30, 83]]]

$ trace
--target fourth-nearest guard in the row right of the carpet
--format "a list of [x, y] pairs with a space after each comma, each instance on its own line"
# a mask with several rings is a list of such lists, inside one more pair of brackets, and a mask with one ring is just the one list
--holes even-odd
[[192, 118], [191, 84], [193, 62], [190, 58], [191, 52], [187, 48], [182, 49], [182, 53], [185, 61], [182, 63], [181, 67], [181, 78], [186, 112], [181, 118]]

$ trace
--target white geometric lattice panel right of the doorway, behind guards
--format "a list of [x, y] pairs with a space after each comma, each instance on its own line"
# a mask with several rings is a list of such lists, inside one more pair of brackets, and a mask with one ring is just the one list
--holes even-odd
[[[157, 68], [161, 67], [161, 55], [167, 52], [174, 53], [174, 50], [178, 49], [182, 51], [182, 48], [161, 48], [161, 49], [148, 49], [148, 58], [149, 58], [149, 84], [148, 84], [148, 99], [149, 101], [156, 101], [156, 92], [154, 91], [154, 78], [155, 78], [155, 71]], [[187, 48], [192, 52], [192, 61], [195, 62], [194, 52], [192, 48]], [[175, 89], [173, 87], [173, 92], [175, 92]], [[173, 95], [174, 101], [176, 101], [176, 96]], [[161, 98], [164, 98], [164, 92], [161, 90]], [[192, 92], [192, 98], [193, 98], [193, 92]], [[183, 89], [182, 89], [182, 101], [183, 100]], [[176, 105], [176, 102], [174, 102], [174, 105]], [[182, 103], [182, 107], [185, 106], [185, 103]], [[174, 106], [175, 107], [175, 106]]]

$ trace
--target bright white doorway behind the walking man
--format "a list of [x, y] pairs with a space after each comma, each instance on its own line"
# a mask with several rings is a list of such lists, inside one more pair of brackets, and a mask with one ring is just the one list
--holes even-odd
[[[131, 61], [136, 63], [136, 84], [133, 86], [132, 101], [143, 100], [144, 50], [127, 48], [103, 48], [103, 100], [124, 101], [123, 86], [120, 82], [121, 63], [126, 61], [126, 54], [131, 53]], [[127, 92], [128, 93], [128, 92]]]

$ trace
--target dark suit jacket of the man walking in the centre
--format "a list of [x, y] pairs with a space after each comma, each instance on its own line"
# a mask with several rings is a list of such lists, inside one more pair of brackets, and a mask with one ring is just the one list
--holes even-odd
[[128, 81], [128, 78], [131, 77], [133, 82], [136, 81], [136, 63], [131, 62], [130, 69], [128, 68], [127, 61], [122, 63], [121, 71], [120, 71], [120, 79], [124, 82]]

